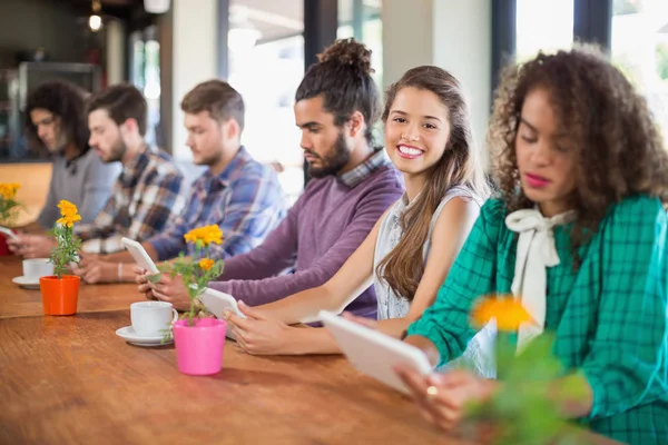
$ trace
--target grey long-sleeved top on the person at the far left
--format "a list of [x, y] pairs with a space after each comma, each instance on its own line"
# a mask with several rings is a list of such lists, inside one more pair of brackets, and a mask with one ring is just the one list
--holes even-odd
[[62, 199], [77, 206], [82, 224], [92, 222], [109, 199], [120, 171], [118, 162], [104, 164], [94, 150], [67, 164], [65, 156], [53, 160], [49, 195], [37, 219], [43, 228], [53, 227], [60, 218], [58, 202]]

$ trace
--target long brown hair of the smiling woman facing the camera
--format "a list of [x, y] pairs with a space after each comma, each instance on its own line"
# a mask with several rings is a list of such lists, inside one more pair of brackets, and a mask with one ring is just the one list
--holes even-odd
[[431, 91], [448, 108], [450, 137], [445, 151], [430, 168], [429, 179], [414, 202], [401, 216], [402, 236], [397, 245], [376, 267], [376, 275], [385, 280], [395, 295], [413, 300], [424, 273], [422, 247], [436, 207], [445, 192], [455, 186], [470, 188], [481, 199], [489, 195], [480, 154], [473, 145], [469, 106], [460, 82], [438, 67], [418, 67], [406, 71], [385, 92], [382, 120], [387, 117], [396, 93], [413, 87]]

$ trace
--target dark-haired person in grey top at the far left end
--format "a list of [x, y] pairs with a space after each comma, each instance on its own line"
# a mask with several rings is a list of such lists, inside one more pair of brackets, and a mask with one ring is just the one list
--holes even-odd
[[[84, 222], [92, 222], [102, 209], [118, 176], [118, 166], [105, 165], [88, 147], [85, 92], [61, 80], [40, 85], [26, 105], [28, 136], [53, 156], [47, 202], [37, 221], [27, 228], [40, 231], [59, 218], [61, 199], [77, 206]], [[30, 256], [29, 243], [17, 254]]]

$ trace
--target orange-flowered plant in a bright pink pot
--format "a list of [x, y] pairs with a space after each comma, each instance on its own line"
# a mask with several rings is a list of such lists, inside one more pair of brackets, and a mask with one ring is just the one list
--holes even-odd
[[188, 375], [213, 375], [223, 367], [227, 324], [210, 316], [198, 297], [208, 281], [223, 273], [223, 260], [209, 258], [210, 245], [220, 244], [223, 233], [212, 225], [190, 230], [185, 239], [195, 245], [195, 256], [186, 258], [181, 253], [174, 264], [164, 268], [171, 277], [183, 277], [190, 298], [189, 309], [173, 325], [178, 369]]

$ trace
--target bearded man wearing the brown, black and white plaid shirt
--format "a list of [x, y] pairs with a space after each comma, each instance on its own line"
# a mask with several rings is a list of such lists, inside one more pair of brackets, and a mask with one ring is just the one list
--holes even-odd
[[[87, 108], [91, 156], [122, 169], [102, 211], [75, 233], [84, 253], [108, 254], [125, 249], [124, 236], [143, 240], [163, 230], [184, 207], [185, 179], [169, 155], [147, 147], [147, 106], [137, 88], [110, 87], [90, 97]], [[56, 241], [35, 236], [30, 245], [37, 256], [49, 256]]]

